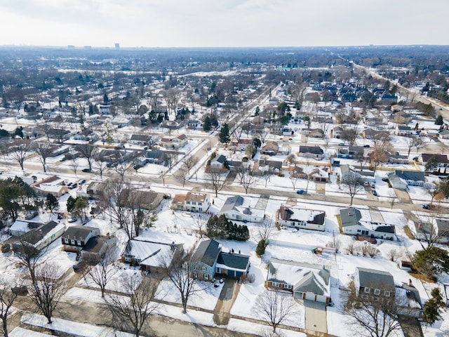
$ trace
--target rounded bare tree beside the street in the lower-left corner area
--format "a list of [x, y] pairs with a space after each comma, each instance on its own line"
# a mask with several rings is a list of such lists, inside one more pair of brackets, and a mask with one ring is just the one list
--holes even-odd
[[30, 286], [29, 299], [51, 324], [51, 317], [62, 296], [67, 291], [62, 273], [57, 265], [46, 263], [36, 270], [36, 282]]

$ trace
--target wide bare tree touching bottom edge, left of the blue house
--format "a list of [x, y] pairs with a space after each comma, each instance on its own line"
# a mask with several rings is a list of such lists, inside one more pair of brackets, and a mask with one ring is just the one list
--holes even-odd
[[117, 329], [124, 327], [139, 337], [144, 326], [148, 324], [150, 315], [158, 308], [157, 303], [152, 302], [156, 288], [156, 279], [123, 275], [120, 289], [107, 296], [113, 326]]

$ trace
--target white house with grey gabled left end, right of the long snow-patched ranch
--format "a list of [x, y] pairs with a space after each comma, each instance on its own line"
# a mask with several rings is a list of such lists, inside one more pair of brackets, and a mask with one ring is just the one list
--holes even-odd
[[379, 211], [348, 207], [340, 209], [340, 220], [344, 234], [363, 235], [380, 239], [394, 239], [394, 225], [387, 224]]

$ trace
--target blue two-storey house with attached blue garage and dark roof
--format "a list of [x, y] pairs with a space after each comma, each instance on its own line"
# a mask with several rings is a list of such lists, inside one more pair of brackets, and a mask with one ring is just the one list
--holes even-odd
[[239, 279], [248, 273], [249, 268], [249, 256], [224, 253], [215, 240], [201, 242], [189, 262], [190, 275], [208, 281], [213, 281], [215, 276]]

